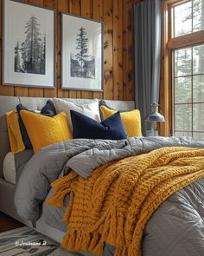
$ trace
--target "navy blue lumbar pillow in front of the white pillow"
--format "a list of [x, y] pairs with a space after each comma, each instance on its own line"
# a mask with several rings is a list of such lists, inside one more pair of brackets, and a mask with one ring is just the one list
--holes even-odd
[[124, 124], [121, 121], [119, 112], [111, 115], [100, 123], [77, 111], [71, 110], [70, 113], [73, 122], [74, 139], [127, 139], [127, 133], [124, 129]]

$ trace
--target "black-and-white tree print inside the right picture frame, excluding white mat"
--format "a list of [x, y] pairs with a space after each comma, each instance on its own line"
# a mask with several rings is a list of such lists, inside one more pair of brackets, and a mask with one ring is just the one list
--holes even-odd
[[95, 78], [95, 56], [88, 55], [88, 47], [86, 28], [81, 26], [76, 37], [76, 51], [70, 54], [72, 77]]

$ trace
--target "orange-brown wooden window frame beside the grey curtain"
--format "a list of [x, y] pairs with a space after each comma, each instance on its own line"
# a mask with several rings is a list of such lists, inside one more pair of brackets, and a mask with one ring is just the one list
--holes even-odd
[[175, 5], [187, 3], [189, 0], [163, 0], [162, 12], [162, 55], [161, 55], [161, 80], [160, 80], [160, 112], [165, 116], [165, 122], [160, 123], [160, 135], [173, 135], [172, 115], [174, 103], [173, 91], [173, 69], [172, 51], [188, 46], [204, 43], [204, 30], [196, 31], [184, 36], [172, 37], [172, 13], [171, 9]]

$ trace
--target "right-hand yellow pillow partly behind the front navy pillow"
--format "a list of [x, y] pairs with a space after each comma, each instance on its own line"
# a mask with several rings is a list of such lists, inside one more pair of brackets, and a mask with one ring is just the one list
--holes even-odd
[[[100, 106], [100, 110], [103, 114], [103, 119], [106, 119], [117, 112], [116, 110], [107, 108], [103, 105]], [[120, 112], [120, 116], [124, 123], [124, 128], [129, 138], [142, 136], [141, 117], [138, 109], [128, 111], [128, 112]]]

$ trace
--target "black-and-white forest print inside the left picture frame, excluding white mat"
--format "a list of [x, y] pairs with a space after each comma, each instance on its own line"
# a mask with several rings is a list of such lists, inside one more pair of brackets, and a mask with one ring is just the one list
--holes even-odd
[[14, 49], [15, 72], [45, 75], [46, 34], [41, 33], [41, 24], [31, 15], [24, 26], [25, 38], [17, 41]]

